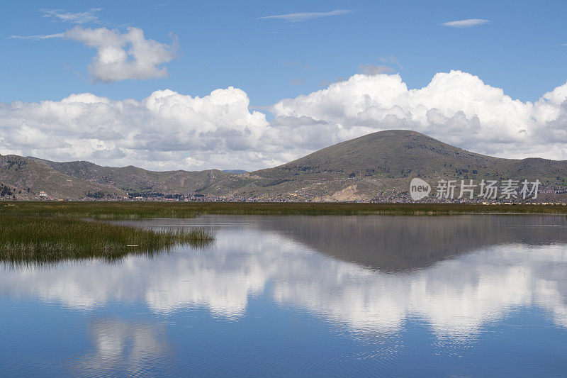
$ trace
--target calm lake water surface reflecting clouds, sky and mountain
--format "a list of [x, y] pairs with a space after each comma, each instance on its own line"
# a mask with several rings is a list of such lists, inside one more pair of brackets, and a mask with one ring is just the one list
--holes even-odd
[[0, 267], [0, 375], [567, 375], [564, 216], [130, 223], [216, 241]]

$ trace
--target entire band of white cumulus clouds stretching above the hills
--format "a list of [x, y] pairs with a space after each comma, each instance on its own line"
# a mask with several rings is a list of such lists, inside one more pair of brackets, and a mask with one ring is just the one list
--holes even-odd
[[233, 87], [203, 97], [166, 89], [140, 101], [72, 94], [4, 103], [0, 153], [147, 169], [254, 170], [404, 128], [488, 155], [567, 159], [567, 83], [524, 102], [460, 71], [436, 74], [419, 89], [408, 89], [399, 74], [355, 74], [279, 101], [271, 121], [249, 103]]

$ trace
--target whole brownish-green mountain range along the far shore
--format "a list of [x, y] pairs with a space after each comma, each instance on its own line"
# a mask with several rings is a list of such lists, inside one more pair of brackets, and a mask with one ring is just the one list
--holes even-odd
[[0, 155], [2, 198], [118, 199], [163, 196], [294, 201], [399, 201], [410, 179], [539, 179], [541, 201], [567, 198], [567, 161], [502, 159], [461, 150], [410, 130], [386, 130], [255, 172], [152, 172], [133, 166], [52, 162]]

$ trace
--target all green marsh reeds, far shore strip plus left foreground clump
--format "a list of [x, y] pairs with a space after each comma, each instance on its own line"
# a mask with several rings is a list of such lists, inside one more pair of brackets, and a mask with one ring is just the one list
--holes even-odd
[[[566, 214], [561, 205], [360, 204], [269, 202], [0, 202], [0, 261], [56, 262], [128, 253], [153, 254], [177, 243], [207, 245], [205, 230], [146, 230], [101, 222], [125, 218], [231, 215], [451, 215], [463, 213]], [[85, 221], [82, 218], [97, 221]]]

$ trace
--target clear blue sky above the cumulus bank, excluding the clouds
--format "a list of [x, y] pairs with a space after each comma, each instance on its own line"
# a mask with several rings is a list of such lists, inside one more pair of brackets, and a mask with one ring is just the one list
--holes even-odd
[[[463, 70], [512, 98], [534, 100], [567, 78], [566, 1], [22, 1], [4, 4], [0, 25], [0, 101], [62, 99], [89, 91], [113, 99], [141, 99], [169, 88], [203, 96], [228, 86], [266, 106], [349, 77], [359, 65], [395, 57], [409, 87], [436, 72]], [[101, 26], [135, 26], [180, 54], [169, 77], [113, 84], [89, 82], [93, 51], [68, 40], [16, 40], [9, 35], [62, 33], [69, 23], [42, 17], [41, 9], [84, 12], [101, 8]], [[349, 9], [303, 22], [259, 19], [294, 12]], [[441, 23], [483, 18], [474, 28]], [[97, 24], [86, 24], [98, 26]], [[308, 67], [305, 69], [305, 67]], [[305, 82], [303, 85], [296, 84]]]

